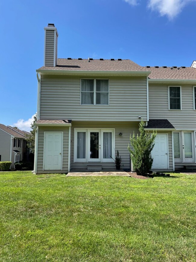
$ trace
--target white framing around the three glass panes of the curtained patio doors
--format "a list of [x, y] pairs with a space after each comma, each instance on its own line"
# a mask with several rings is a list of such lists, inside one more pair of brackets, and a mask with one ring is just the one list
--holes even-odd
[[[114, 163], [115, 159], [115, 128], [74, 128], [74, 163], [84, 162], [90, 163], [92, 161], [88, 160], [88, 148], [90, 141], [90, 132], [92, 131], [100, 131], [100, 142], [101, 142], [101, 150], [100, 150], [100, 162], [98, 163]], [[77, 132], [86, 132], [86, 157], [85, 158], [77, 158]], [[112, 132], [112, 158], [104, 159], [103, 158], [103, 132]], [[93, 161], [96, 162], [96, 161]]]

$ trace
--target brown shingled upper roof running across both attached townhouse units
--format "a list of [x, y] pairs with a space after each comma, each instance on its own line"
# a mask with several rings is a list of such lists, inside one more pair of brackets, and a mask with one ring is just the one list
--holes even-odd
[[42, 66], [39, 70], [66, 71], [151, 71], [150, 79], [196, 79], [196, 68], [193, 67], [146, 67], [129, 59], [65, 59], [58, 58], [57, 66]]

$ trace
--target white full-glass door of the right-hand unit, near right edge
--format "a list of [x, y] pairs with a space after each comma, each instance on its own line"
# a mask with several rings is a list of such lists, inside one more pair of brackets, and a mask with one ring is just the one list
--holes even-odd
[[183, 132], [183, 162], [194, 162], [193, 132]]

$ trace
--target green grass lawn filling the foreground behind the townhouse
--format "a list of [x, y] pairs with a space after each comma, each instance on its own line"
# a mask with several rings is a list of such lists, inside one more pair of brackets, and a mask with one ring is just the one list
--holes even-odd
[[0, 261], [196, 261], [195, 186], [0, 172]]

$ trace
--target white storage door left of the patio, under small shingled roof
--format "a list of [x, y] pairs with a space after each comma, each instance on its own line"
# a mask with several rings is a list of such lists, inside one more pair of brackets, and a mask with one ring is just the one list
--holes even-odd
[[62, 170], [62, 132], [44, 132], [43, 170]]

